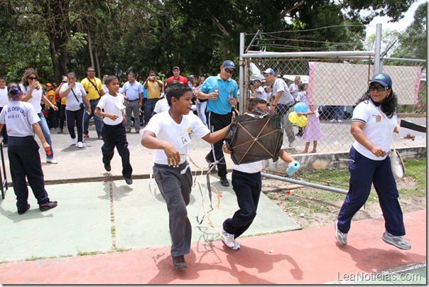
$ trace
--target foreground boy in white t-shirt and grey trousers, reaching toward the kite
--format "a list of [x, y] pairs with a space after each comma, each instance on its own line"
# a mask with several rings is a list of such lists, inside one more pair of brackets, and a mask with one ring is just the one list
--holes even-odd
[[168, 112], [156, 114], [143, 129], [141, 144], [155, 149], [153, 177], [168, 208], [171, 256], [176, 269], [187, 268], [184, 254], [190, 252], [192, 227], [186, 206], [190, 202], [192, 174], [186, 156], [192, 136], [210, 144], [223, 139], [229, 126], [210, 133], [192, 113], [192, 90], [178, 84], [168, 88]]

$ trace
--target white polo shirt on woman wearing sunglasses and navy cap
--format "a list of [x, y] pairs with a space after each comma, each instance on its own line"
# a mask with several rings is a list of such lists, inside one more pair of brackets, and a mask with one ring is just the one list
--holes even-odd
[[[374, 144], [389, 152], [391, 148], [391, 135], [396, 126], [398, 117], [393, 115], [389, 122], [385, 114], [381, 114], [379, 107], [376, 107], [371, 100], [368, 102], [359, 103], [353, 110], [352, 121], [359, 121], [365, 124], [364, 133], [366, 137]], [[371, 151], [359, 144], [357, 141], [353, 143], [354, 149], [361, 153], [366, 158], [374, 161], [383, 161], [386, 156], [374, 156]]]

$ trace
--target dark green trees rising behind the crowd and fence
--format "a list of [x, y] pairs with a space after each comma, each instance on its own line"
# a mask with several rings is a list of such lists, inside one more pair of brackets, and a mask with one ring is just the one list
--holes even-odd
[[169, 76], [178, 65], [185, 75], [213, 75], [223, 60], [238, 60], [240, 33], [259, 32], [255, 48], [273, 51], [360, 50], [365, 24], [379, 15], [397, 21], [413, 1], [2, 0], [0, 74], [16, 80], [36, 67], [52, 81], [71, 70], [85, 77], [93, 65], [124, 81], [130, 71]]

